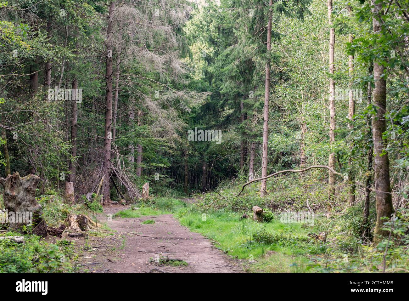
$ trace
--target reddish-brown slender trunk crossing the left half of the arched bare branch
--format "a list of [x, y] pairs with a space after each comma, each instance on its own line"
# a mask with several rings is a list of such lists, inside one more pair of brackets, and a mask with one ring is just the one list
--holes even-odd
[[[271, 22], [272, 22], [272, 6], [273, 1], [270, 0], [270, 11], [268, 15], [267, 25], [267, 54], [271, 50]], [[263, 159], [261, 163], [261, 177], [267, 176], [267, 143], [268, 143], [268, 102], [270, 98], [270, 59], [267, 59], [265, 64], [265, 95], [264, 95], [264, 122], [263, 122]], [[264, 197], [267, 193], [267, 181], [261, 181], [261, 197]]]

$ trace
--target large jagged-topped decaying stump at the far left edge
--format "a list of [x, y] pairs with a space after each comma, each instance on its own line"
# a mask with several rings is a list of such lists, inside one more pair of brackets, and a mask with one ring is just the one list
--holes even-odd
[[0, 178], [4, 187], [3, 200], [10, 230], [21, 232], [26, 226], [30, 233], [47, 236], [43, 211], [35, 196], [39, 181], [40, 178], [34, 174], [20, 178], [18, 172], [9, 174], [6, 179]]

